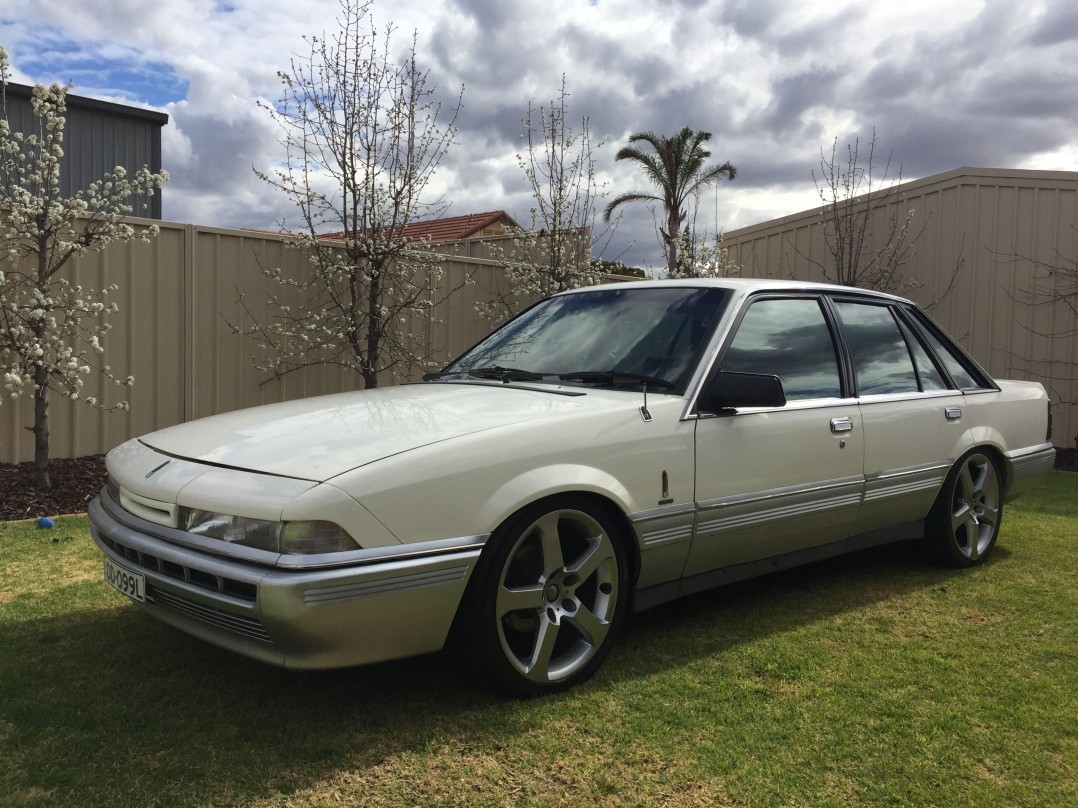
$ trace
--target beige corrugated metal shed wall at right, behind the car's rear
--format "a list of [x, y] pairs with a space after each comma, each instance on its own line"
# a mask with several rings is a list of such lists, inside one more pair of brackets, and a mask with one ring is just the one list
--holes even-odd
[[[1056, 445], [1075, 445], [1078, 406], [1066, 403], [1078, 401], [1075, 314], [1062, 304], [1037, 305], [1029, 295], [1035, 279], [1054, 281], [1013, 256], [1075, 265], [1078, 173], [963, 168], [902, 184], [893, 205], [900, 213], [915, 211], [915, 231], [924, 225], [903, 267], [921, 285], [906, 294], [929, 306], [992, 375], [1044, 384], [1064, 402], [1055, 407]], [[874, 236], [883, 232], [877, 221]], [[723, 239], [754, 277], [820, 280], [818, 264], [829, 257], [819, 209]]]

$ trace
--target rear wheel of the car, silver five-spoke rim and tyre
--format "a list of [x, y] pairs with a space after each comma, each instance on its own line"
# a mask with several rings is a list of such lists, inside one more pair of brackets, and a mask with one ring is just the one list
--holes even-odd
[[996, 545], [1003, 515], [999, 468], [990, 454], [973, 449], [951, 469], [932, 506], [929, 549], [952, 567], [984, 563]]

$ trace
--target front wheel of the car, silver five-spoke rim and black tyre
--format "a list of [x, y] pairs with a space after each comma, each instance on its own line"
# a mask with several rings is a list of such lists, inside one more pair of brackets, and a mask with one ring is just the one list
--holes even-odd
[[516, 696], [568, 689], [603, 664], [628, 600], [614, 523], [581, 497], [530, 505], [495, 531], [458, 649]]

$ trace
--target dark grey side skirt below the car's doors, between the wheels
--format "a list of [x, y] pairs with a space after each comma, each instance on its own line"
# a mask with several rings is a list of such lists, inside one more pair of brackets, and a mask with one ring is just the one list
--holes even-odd
[[870, 533], [849, 537], [831, 544], [821, 544], [818, 547], [806, 547], [805, 549], [786, 553], [771, 558], [761, 558], [758, 561], [737, 563], [731, 567], [723, 567], [709, 572], [702, 572], [699, 575], [690, 575], [679, 581], [671, 581], [658, 586], [649, 586], [638, 589], [633, 595], [633, 611], [642, 612], [652, 607], [677, 600], [689, 595], [714, 589], [727, 584], [734, 584], [746, 579], [766, 575], [769, 572], [778, 572], [793, 567], [801, 567], [815, 561], [823, 561], [827, 558], [843, 556], [847, 553], [856, 553], [869, 547], [877, 547], [883, 544], [904, 542], [925, 537], [924, 520], [908, 521], [903, 525], [873, 530]]

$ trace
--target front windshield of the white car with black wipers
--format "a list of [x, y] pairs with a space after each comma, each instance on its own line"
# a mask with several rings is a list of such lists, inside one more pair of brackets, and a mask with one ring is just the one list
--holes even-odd
[[[725, 289], [603, 287], [550, 297], [434, 376], [641, 384], [679, 391], [729, 299]], [[566, 378], [567, 377], [567, 378]]]

